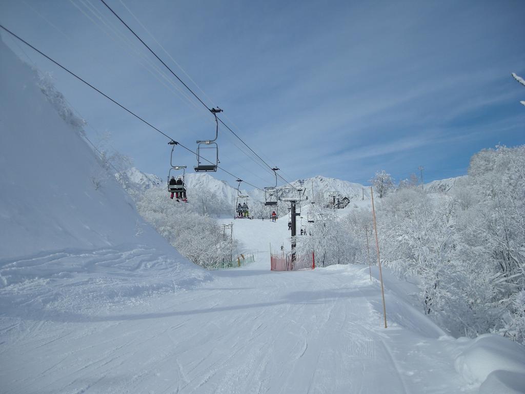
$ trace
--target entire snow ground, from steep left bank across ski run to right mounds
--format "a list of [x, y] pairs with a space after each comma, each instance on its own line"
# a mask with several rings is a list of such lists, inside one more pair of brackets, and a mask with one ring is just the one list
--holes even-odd
[[192, 265], [3, 43], [0, 78], [0, 392], [525, 392], [522, 346], [447, 336], [388, 273], [385, 329], [375, 269], [271, 272], [286, 217], [234, 221], [254, 264]]

